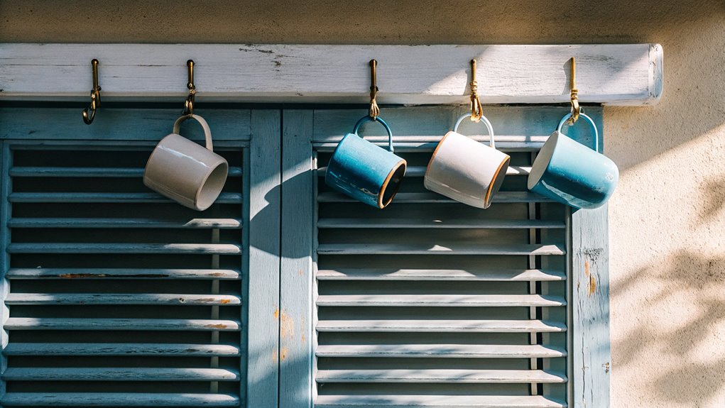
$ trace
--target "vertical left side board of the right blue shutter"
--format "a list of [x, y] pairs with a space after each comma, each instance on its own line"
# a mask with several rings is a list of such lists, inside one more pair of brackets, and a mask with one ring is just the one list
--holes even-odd
[[283, 111], [279, 408], [312, 404], [312, 111]]

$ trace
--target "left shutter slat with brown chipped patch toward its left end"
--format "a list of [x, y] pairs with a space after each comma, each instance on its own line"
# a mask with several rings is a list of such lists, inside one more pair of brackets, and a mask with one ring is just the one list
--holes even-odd
[[9, 279], [218, 279], [239, 280], [231, 269], [12, 268]]

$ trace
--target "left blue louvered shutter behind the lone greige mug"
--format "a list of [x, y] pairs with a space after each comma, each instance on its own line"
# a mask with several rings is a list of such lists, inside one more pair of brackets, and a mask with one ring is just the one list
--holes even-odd
[[[244, 406], [247, 347], [253, 344], [248, 328], [260, 324], [247, 317], [249, 265], [260, 263], [249, 256], [249, 215], [262, 202], [250, 199], [258, 188], [250, 188], [250, 173], [278, 172], [274, 157], [268, 166], [250, 166], [263, 156], [254, 149], [250, 154], [249, 111], [207, 117], [218, 130], [215, 151], [230, 170], [223, 193], [204, 212], [141, 182], [155, 141], [178, 112], [99, 112], [94, 128], [78, 125], [77, 109], [10, 112], [17, 116], [9, 119], [9, 131], [21, 131], [4, 141], [2, 157], [9, 334], [2, 404]], [[43, 113], [68, 128], [29, 120]], [[273, 146], [278, 115], [269, 118], [260, 137], [271, 133]], [[36, 130], [43, 140], [12, 140]], [[191, 125], [183, 133], [200, 139]], [[59, 141], [64, 138], [91, 140]], [[273, 220], [277, 211], [270, 207]], [[264, 233], [278, 240], [274, 228]], [[270, 265], [278, 265], [273, 258]], [[271, 307], [252, 304], [256, 315], [258, 306], [269, 309], [274, 324]], [[269, 349], [274, 346], [270, 342]]]

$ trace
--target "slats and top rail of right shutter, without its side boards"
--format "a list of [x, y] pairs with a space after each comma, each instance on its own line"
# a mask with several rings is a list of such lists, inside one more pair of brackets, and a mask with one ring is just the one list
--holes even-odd
[[[423, 188], [431, 152], [460, 112], [384, 109], [409, 167], [379, 210], [323, 181], [363, 113], [315, 111], [315, 407], [566, 407], [570, 215], [526, 190], [562, 109], [486, 111], [512, 159], [485, 210]], [[461, 132], [480, 134], [475, 126]], [[362, 133], [384, 142], [382, 131], [370, 123]]]

